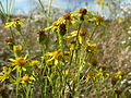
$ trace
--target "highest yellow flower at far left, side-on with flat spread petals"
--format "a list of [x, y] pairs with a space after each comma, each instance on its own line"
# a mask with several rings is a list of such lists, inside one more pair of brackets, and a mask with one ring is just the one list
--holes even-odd
[[10, 27], [10, 26], [14, 26], [14, 27], [16, 27], [17, 25], [21, 25], [23, 22], [25, 21], [25, 19], [19, 19], [19, 17], [16, 17], [16, 19], [14, 19], [13, 20], [13, 22], [8, 22], [8, 23], [5, 23], [5, 28], [8, 28], [8, 27]]

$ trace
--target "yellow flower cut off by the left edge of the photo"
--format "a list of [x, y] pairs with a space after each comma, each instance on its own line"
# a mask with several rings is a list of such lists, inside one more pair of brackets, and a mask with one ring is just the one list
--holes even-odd
[[0, 82], [2, 83], [3, 81], [5, 81], [7, 78], [9, 78], [10, 76], [10, 73], [11, 73], [11, 69], [10, 68], [7, 68], [7, 66], [3, 66], [3, 72], [0, 73]]

